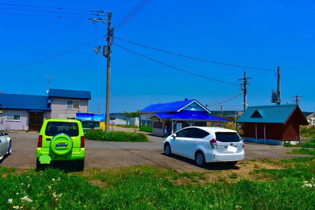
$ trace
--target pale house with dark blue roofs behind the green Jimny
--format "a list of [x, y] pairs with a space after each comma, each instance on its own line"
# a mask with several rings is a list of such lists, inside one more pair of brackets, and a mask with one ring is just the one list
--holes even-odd
[[91, 92], [50, 89], [48, 96], [0, 94], [0, 129], [38, 131], [46, 118], [76, 119], [87, 113]]

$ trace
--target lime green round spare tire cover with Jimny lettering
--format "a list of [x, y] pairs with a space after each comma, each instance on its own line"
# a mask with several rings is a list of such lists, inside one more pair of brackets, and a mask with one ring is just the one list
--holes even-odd
[[67, 155], [72, 150], [72, 147], [72, 139], [65, 133], [57, 134], [50, 140], [50, 149], [55, 155]]

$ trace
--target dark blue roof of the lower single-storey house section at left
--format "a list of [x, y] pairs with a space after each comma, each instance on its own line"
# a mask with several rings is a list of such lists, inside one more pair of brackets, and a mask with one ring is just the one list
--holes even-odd
[[48, 100], [40, 95], [0, 94], [0, 108], [51, 111]]

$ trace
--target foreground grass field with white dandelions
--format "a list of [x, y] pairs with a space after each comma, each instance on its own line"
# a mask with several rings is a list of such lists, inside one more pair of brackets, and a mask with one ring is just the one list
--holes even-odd
[[[307, 149], [292, 153], [315, 154]], [[217, 175], [213, 180], [207, 179], [208, 173], [217, 174], [213, 171], [178, 172], [148, 166], [70, 173], [52, 168], [16, 173], [0, 167], [0, 209], [17, 205], [23, 210], [314, 209], [314, 159], [251, 161], [282, 164], [283, 169], [257, 166], [249, 177], [236, 171], [229, 178]]]

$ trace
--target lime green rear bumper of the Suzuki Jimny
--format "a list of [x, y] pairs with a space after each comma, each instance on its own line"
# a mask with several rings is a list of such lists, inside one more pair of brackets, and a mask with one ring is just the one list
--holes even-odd
[[[74, 148], [73, 148], [74, 149]], [[41, 155], [49, 155], [51, 157], [51, 161], [75, 161], [75, 160], [83, 160], [85, 156], [85, 148], [76, 148], [78, 152], [70, 151], [65, 156], [55, 155], [51, 150], [49, 152], [43, 152], [42, 148], [37, 147], [37, 160], [39, 160], [39, 156]]]

